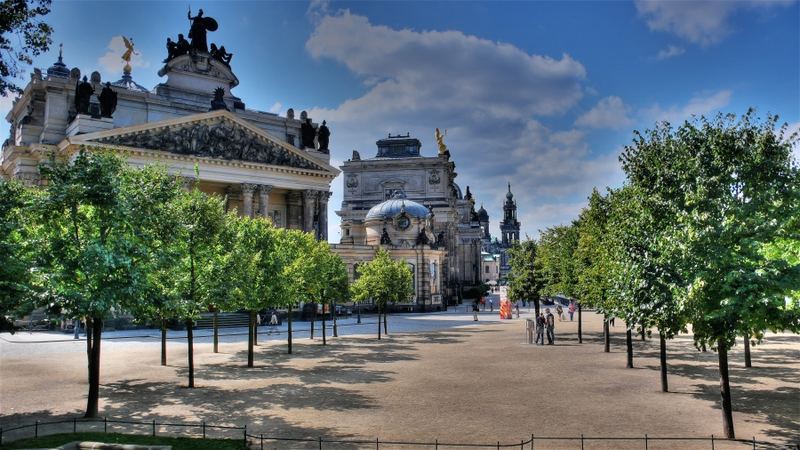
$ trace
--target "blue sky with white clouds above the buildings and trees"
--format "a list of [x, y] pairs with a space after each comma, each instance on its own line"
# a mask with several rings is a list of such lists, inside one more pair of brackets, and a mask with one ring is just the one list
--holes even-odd
[[[69, 67], [121, 75], [115, 36], [141, 53], [151, 88], [168, 36], [188, 31], [184, 2], [54, 2], [54, 51]], [[411, 132], [433, 155], [435, 127], [492, 220], [506, 181], [523, 233], [567, 222], [593, 186], [622, 180], [634, 129], [692, 114], [777, 113], [800, 126], [797, 1], [203, 2], [209, 42], [234, 53], [248, 108], [309, 110], [332, 131], [334, 165]], [[27, 78], [27, 74], [25, 75]], [[0, 105], [7, 109], [8, 102]], [[342, 180], [333, 183], [333, 213]]]

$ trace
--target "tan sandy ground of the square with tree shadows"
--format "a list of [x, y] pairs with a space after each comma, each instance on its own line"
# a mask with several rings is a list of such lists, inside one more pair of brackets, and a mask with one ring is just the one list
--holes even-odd
[[[374, 334], [349, 335], [322, 346], [304, 337], [295, 341], [293, 355], [285, 342], [262, 339], [255, 368], [246, 367], [246, 343], [239, 339], [223, 343], [218, 354], [202, 342], [195, 350], [196, 389], [185, 387], [184, 342], [170, 341], [169, 365], [162, 367], [157, 340], [104, 341], [101, 414], [247, 424], [252, 432], [281, 437], [428, 442], [722, 434], [716, 353], [698, 352], [688, 336], [668, 343], [671, 392], [662, 393], [658, 340], [635, 340], [636, 368], [626, 369], [620, 320], [611, 353], [603, 353], [601, 320], [594, 314], [584, 314], [583, 344], [577, 343], [577, 322], [557, 322], [555, 346], [526, 344], [524, 320], [473, 325], [463, 313], [414, 320], [428, 319], [443, 325], [393, 333], [394, 325], [411, 319], [390, 316], [390, 335], [381, 341]], [[84, 345], [0, 342], [0, 426], [80, 415], [87, 390]], [[743, 360], [738, 345], [730, 352], [738, 437], [800, 442], [800, 336], [768, 335], [753, 348], [753, 367], [745, 369]], [[304, 445], [268, 441], [267, 448], [316, 448]], [[536, 448], [580, 448], [580, 442], [537, 440]], [[644, 443], [587, 441], [585, 448]], [[711, 445], [651, 441], [649, 448]]]

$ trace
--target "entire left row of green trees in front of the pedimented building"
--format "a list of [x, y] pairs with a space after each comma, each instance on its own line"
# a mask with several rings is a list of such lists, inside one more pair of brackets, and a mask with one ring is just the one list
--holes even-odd
[[[40, 171], [47, 179], [42, 189], [0, 180], [0, 312], [8, 321], [47, 307], [85, 319], [86, 417], [98, 413], [103, 322], [115, 312], [161, 325], [163, 365], [167, 323], [185, 322], [194, 387], [192, 328], [201, 313], [249, 313], [252, 367], [258, 311], [288, 309], [291, 353], [297, 303], [349, 297], [345, 265], [327, 242], [226, 214], [224, 199], [163, 167], [137, 170], [111, 154], [81, 151], [70, 164]], [[374, 299], [385, 311], [387, 302], [411, 295], [409, 269], [388, 254], [361, 267], [356, 300]], [[323, 324], [323, 343], [324, 333]], [[214, 326], [215, 352], [217, 342]]]

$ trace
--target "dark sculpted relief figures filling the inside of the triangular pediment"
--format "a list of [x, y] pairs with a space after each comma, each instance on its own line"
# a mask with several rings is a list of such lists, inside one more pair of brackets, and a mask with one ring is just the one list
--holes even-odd
[[252, 132], [234, 124], [194, 123], [186, 127], [169, 127], [139, 133], [109, 136], [97, 141], [161, 150], [181, 155], [205, 156], [227, 160], [240, 160], [296, 167], [299, 169], [324, 170], [305, 158], [279, 145], [254, 136]]

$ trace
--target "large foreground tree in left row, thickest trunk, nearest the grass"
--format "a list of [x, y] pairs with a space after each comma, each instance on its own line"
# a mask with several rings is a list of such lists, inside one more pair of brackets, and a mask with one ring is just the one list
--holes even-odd
[[127, 165], [111, 155], [81, 151], [71, 164], [40, 167], [47, 178], [35, 211], [41, 286], [48, 300], [86, 317], [89, 395], [86, 417], [96, 417], [103, 321], [141, 300], [147, 291], [148, 249], [133, 225], [151, 213], [126, 176]]

